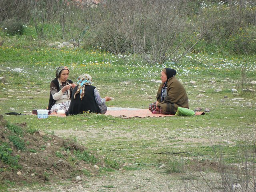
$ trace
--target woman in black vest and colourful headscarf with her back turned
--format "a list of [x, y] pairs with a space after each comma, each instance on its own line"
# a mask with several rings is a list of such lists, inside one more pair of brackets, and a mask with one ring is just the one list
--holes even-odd
[[89, 74], [83, 74], [78, 77], [78, 86], [74, 88], [70, 107], [66, 115], [76, 115], [83, 112], [104, 114], [107, 112], [106, 101], [110, 97], [100, 97], [97, 88], [92, 86], [92, 77]]

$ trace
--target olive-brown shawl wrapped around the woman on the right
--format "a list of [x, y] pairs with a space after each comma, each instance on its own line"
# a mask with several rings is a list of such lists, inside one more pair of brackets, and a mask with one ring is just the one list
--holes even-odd
[[188, 95], [182, 84], [175, 78], [171, 77], [167, 81], [167, 96], [164, 98], [163, 102], [161, 100], [161, 91], [164, 86], [162, 83], [156, 94], [156, 100], [159, 102], [158, 107], [161, 108], [163, 114], [175, 114], [178, 107], [188, 107]]

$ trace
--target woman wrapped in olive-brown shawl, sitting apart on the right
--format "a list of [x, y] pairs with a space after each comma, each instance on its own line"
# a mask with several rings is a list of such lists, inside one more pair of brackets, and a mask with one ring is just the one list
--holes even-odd
[[149, 105], [153, 114], [175, 114], [178, 107], [188, 108], [188, 96], [182, 84], [175, 78], [176, 70], [164, 68], [162, 84], [156, 94], [156, 102]]

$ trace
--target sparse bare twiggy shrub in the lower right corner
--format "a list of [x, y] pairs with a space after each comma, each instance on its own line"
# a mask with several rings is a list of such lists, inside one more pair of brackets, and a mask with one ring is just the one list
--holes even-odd
[[[186, 191], [211, 191], [211, 192], [255, 192], [256, 166], [255, 144], [245, 142], [239, 146], [237, 154], [224, 156], [222, 150], [216, 150], [215, 161], [218, 166], [216, 171], [205, 171], [196, 164], [198, 180], [184, 180]], [[228, 164], [226, 158], [234, 159], [236, 163]]]

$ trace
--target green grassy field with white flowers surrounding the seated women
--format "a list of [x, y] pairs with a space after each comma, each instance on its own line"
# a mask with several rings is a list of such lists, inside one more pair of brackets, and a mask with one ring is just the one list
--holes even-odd
[[[190, 108], [210, 108], [210, 112], [193, 117], [132, 119], [80, 114], [38, 120], [36, 116], [4, 115], [5, 120], [75, 138], [118, 164], [132, 164], [132, 170], [167, 164], [167, 172], [182, 172], [192, 159], [216, 161], [216, 157], [232, 165], [243, 161], [245, 152], [248, 161], [255, 163], [251, 152], [255, 150], [256, 85], [248, 83], [256, 80], [255, 55], [191, 53], [177, 63], [148, 66], [135, 55], [114, 55], [100, 48], [56, 49], [48, 44], [25, 36], [9, 38], [0, 46], [0, 114], [46, 108], [50, 81], [61, 65], [70, 68], [69, 78], [74, 82], [80, 74], [90, 74], [102, 97], [114, 97], [107, 106], [124, 108], [148, 108], [159, 86], [152, 80], [160, 80], [162, 68], [174, 68], [186, 88]], [[190, 84], [191, 80], [196, 84]], [[222, 92], [216, 92], [218, 88]], [[234, 88], [237, 94], [232, 93]], [[200, 90], [205, 97], [197, 98]], [[173, 164], [181, 168], [174, 170]]]

